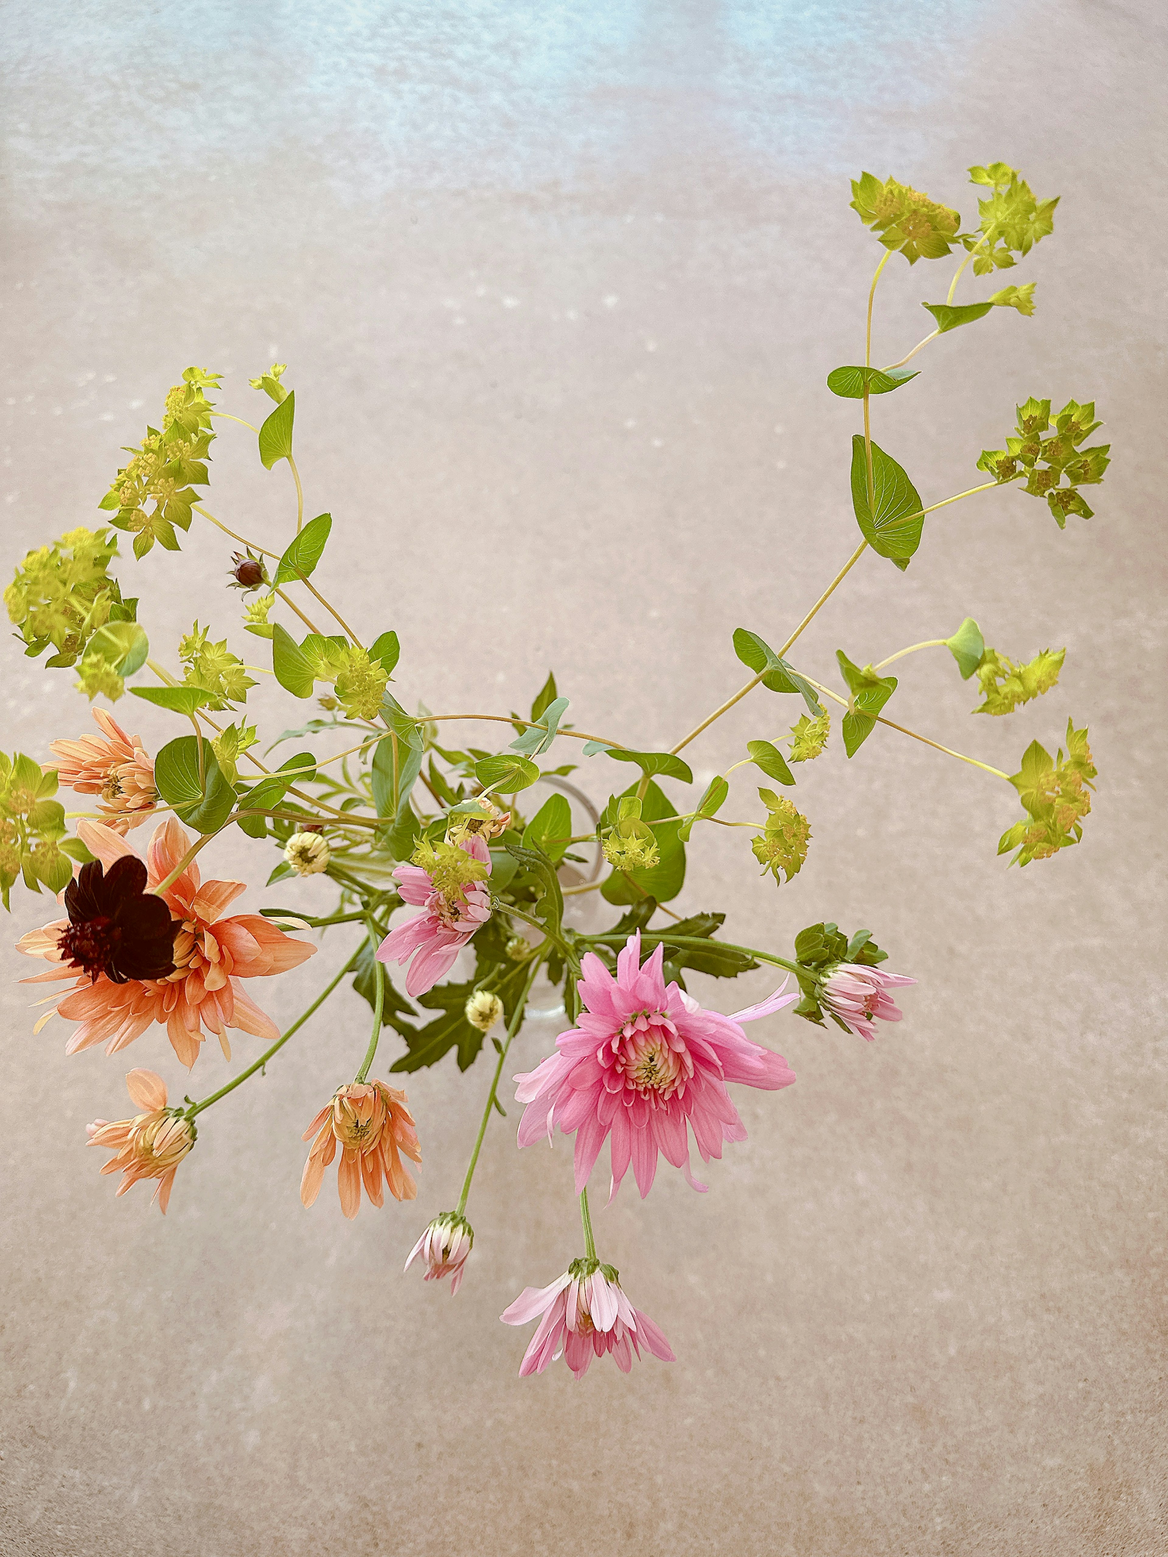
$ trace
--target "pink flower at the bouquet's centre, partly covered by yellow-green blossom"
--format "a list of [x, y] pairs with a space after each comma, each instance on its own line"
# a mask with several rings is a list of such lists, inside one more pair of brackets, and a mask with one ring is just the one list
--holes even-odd
[[450, 972], [473, 933], [491, 919], [491, 850], [478, 835], [458, 844], [422, 844], [394, 880], [402, 902], [425, 908], [377, 948], [378, 962], [408, 962], [406, 995], [425, 995]]

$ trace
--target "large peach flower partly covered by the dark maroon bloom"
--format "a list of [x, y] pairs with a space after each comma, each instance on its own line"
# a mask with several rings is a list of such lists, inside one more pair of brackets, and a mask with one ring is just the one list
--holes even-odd
[[[93, 855], [109, 866], [134, 850], [104, 822], [78, 822], [78, 836]], [[148, 886], [164, 881], [190, 847], [190, 838], [170, 817], [159, 824], [146, 850]], [[103, 975], [90, 982], [87, 975], [64, 964], [59, 945], [69, 920], [55, 920], [33, 930], [17, 942], [17, 951], [45, 958], [56, 964], [48, 973], [37, 973], [26, 984], [73, 979], [73, 987], [56, 998], [36, 1026], [39, 1032], [53, 1015], [79, 1021], [65, 1045], [65, 1054], [78, 1054], [95, 1043], [106, 1043], [106, 1054], [123, 1049], [140, 1037], [151, 1023], [165, 1025], [167, 1035], [179, 1060], [190, 1068], [199, 1054], [206, 1034], [216, 1034], [220, 1046], [230, 1059], [227, 1028], [240, 1028], [257, 1039], [277, 1039], [279, 1028], [245, 993], [240, 979], [266, 978], [299, 967], [316, 947], [293, 940], [259, 914], [235, 914], [223, 919], [223, 911], [245, 891], [241, 881], [201, 881], [199, 867], [192, 861], [165, 892], [159, 894], [174, 919], [174, 972], [160, 979], [128, 979], [115, 984]]]

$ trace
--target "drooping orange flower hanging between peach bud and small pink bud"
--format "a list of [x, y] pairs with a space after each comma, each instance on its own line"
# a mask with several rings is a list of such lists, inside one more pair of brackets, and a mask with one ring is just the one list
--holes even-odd
[[406, 1109], [406, 1096], [386, 1087], [383, 1081], [355, 1081], [338, 1087], [302, 1140], [316, 1135], [304, 1165], [301, 1199], [311, 1205], [321, 1193], [324, 1169], [341, 1148], [336, 1165], [336, 1191], [347, 1218], [361, 1210], [361, 1183], [374, 1205], [383, 1205], [382, 1177], [396, 1200], [413, 1200], [417, 1186], [402, 1163], [402, 1154], [420, 1163], [414, 1121]]

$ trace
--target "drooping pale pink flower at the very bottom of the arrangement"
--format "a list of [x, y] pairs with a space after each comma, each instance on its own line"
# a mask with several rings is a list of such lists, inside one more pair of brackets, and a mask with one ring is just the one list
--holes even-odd
[[593, 1358], [612, 1353], [621, 1373], [632, 1353], [645, 1347], [662, 1362], [676, 1362], [670, 1342], [654, 1322], [624, 1295], [617, 1272], [596, 1260], [573, 1260], [551, 1286], [525, 1286], [498, 1316], [505, 1325], [526, 1325], [542, 1314], [539, 1330], [523, 1353], [519, 1376], [542, 1373], [561, 1355], [579, 1380]]

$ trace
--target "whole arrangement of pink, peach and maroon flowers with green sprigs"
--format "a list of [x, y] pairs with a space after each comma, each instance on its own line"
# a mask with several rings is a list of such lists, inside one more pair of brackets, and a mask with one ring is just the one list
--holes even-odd
[[[386, 1028], [397, 1048], [388, 1074], [397, 1076], [434, 1065], [450, 1051], [459, 1070], [469, 1071], [491, 1039], [494, 1074], [458, 1205], [431, 1219], [406, 1261], [406, 1269], [420, 1263], [425, 1280], [450, 1277], [456, 1292], [475, 1238], [466, 1214], [475, 1166], [492, 1113], [503, 1112], [498, 1091], [508, 1053], [544, 975], [562, 989], [565, 1028], [553, 1053], [514, 1076], [523, 1105], [519, 1146], [551, 1141], [558, 1130], [573, 1137], [584, 1253], [548, 1286], [526, 1288], [501, 1317], [511, 1325], [540, 1320], [520, 1365], [525, 1375], [544, 1372], [559, 1356], [576, 1378], [606, 1353], [624, 1372], [645, 1351], [673, 1361], [662, 1331], [632, 1306], [617, 1271], [596, 1252], [589, 1183], [601, 1152], [607, 1146], [612, 1194], [632, 1171], [640, 1196], [648, 1196], [662, 1158], [704, 1191], [693, 1172], [693, 1148], [709, 1163], [726, 1143], [746, 1138], [732, 1088], [779, 1091], [794, 1081], [777, 1053], [748, 1037], [746, 1025], [791, 1007], [805, 1021], [832, 1021], [871, 1040], [878, 1023], [900, 1020], [895, 992], [914, 982], [883, 967], [886, 953], [869, 930], [849, 934], [829, 922], [810, 925], [780, 953], [724, 940], [721, 912], [677, 914], [670, 905], [684, 891], [695, 827], [748, 828], [743, 864], [752, 856], [782, 886], [805, 866], [811, 839], [808, 819], [790, 794], [797, 788], [797, 764], [821, 760], [833, 744], [843, 744], [850, 761], [877, 724], [1012, 786], [1023, 816], [998, 842], [998, 853], [1012, 855], [1011, 863], [1026, 866], [1075, 845], [1090, 811], [1096, 771], [1087, 730], [1073, 721], [1065, 754], [1059, 747], [1051, 757], [1034, 740], [1011, 775], [888, 716], [899, 685], [888, 671], [911, 654], [941, 649], [952, 655], [959, 676], [980, 688], [983, 701], [973, 712], [1003, 718], [1056, 685], [1065, 651], [1014, 660], [989, 648], [978, 623], [966, 618], [947, 637], [908, 645], [875, 665], [841, 648], [835, 685], [791, 659], [807, 624], [866, 553], [903, 571], [922, 545], [928, 515], [952, 503], [1017, 484], [1045, 501], [1059, 529], [1071, 517], [1092, 517], [1082, 492], [1101, 483], [1109, 464], [1109, 445], [1085, 447], [1099, 427], [1092, 402], [1070, 400], [1051, 413], [1051, 400], [1031, 397], [1017, 406], [1004, 448], [972, 459], [986, 480], [934, 503], [922, 501], [905, 469], [872, 436], [874, 399], [906, 389], [920, 372], [909, 361], [936, 336], [998, 308], [1034, 313], [1033, 282], [1008, 285], [978, 302], [958, 304], [955, 296], [967, 268], [976, 277], [1011, 269], [1048, 237], [1057, 199], [1036, 199], [1020, 174], [1000, 162], [972, 168], [970, 177], [984, 198], [969, 230], [956, 210], [895, 179], [864, 173], [852, 184], [852, 209], [883, 248], [867, 291], [864, 361], [827, 375], [832, 394], [858, 402], [850, 494], [860, 543], [777, 649], [752, 629], [734, 634], [734, 654], [749, 679], [670, 750], [576, 729], [553, 674], [528, 718], [431, 713], [420, 704], [408, 712], [391, 690], [402, 652], [397, 634], [374, 623], [383, 631], [361, 624], [358, 635], [313, 579], [332, 517], [305, 522], [293, 455], [296, 395], [283, 383], [283, 364], [251, 380], [274, 403], [259, 427], [218, 408], [218, 374], [188, 367], [167, 395], [162, 427], [148, 428], [140, 447], [128, 450], [128, 464], [101, 498], [107, 525], [72, 529], [25, 556], [5, 592], [25, 652], [48, 651], [45, 666], [72, 670], [90, 704], [97, 698], [118, 702], [129, 693], [171, 718], [176, 730], [151, 755], [139, 735], [126, 733], [123, 726], [132, 719], [121, 713], [118, 722], [104, 707], [93, 707], [100, 733], [53, 741], [51, 761], [0, 757], [5, 906], [23, 881], [33, 892], [48, 889], [64, 911], [19, 942], [20, 951], [48, 964], [30, 982], [67, 986], [48, 993], [36, 1031], [61, 1017], [75, 1025], [67, 1054], [98, 1043], [114, 1054], [148, 1034], [148, 1043], [154, 1042], [154, 1029], [165, 1028], [188, 1070], [207, 1034], [215, 1034], [227, 1062], [232, 1031], [263, 1045], [216, 1090], [181, 1104], [168, 1101], [153, 1071], [128, 1073], [140, 1112], [89, 1126], [92, 1144], [114, 1152], [103, 1172], [123, 1174], [118, 1194], [139, 1179], [153, 1179], [165, 1211], [178, 1169], [198, 1143], [196, 1119], [260, 1071], [347, 981], [368, 1003], [372, 1031], [355, 1076], [349, 1079], [339, 1060], [330, 1060], [333, 1071], [322, 1076], [321, 1096], [311, 1099], [313, 1107], [324, 1101], [304, 1133], [311, 1141], [301, 1185], [305, 1207], [318, 1199], [333, 1162], [347, 1218], [357, 1216], [363, 1196], [382, 1207], [386, 1188], [396, 1200], [417, 1194], [406, 1162], [420, 1163], [422, 1151], [406, 1093], [369, 1079]], [[964, 252], [945, 301], [922, 304], [931, 332], [897, 361], [874, 367], [877, 285], [892, 257], [914, 266], [953, 251]], [[206, 504], [201, 489], [210, 484], [220, 419], [251, 428], [268, 470], [288, 466], [296, 518], [293, 528], [290, 514], [288, 532], [276, 545], [237, 534]], [[254, 657], [269, 655], [269, 665], [246, 665], [226, 637], [213, 638], [198, 621], [170, 659], [151, 651], [139, 620], [142, 601], [123, 593], [125, 576], [112, 571], [118, 532], [132, 536], [135, 557], [156, 543], [179, 551], [181, 532], [196, 518], [235, 543], [226, 587], [240, 592], [240, 626], [259, 640]], [[892, 573], [888, 579], [895, 584]], [[290, 698], [318, 701], [313, 718], [269, 744], [245, 715], [259, 674], [274, 677]], [[684, 754], [757, 688], [777, 696], [779, 708], [796, 710], [785, 750], [771, 740], [748, 741], [743, 758], [696, 797]], [[766, 708], [768, 719], [772, 708]], [[489, 740], [500, 726], [512, 736], [506, 744]], [[466, 744], [456, 744], [456, 729], [467, 732]], [[487, 746], [470, 744], [481, 730]], [[338, 735], [347, 744], [322, 752]], [[304, 740], [304, 749], [269, 766], [265, 758], [290, 736]], [[584, 831], [573, 831], [564, 794], [570, 788], [564, 775], [573, 771], [562, 760], [565, 749], [595, 763], [612, 786], [595, 825]], [[559, 766], [540, 764], [542, 758]], [[735, 772], [738, 780], [732, 780]], [[749, 785], [748, 774], [755, 775]], [[757, 777], [788, 793], [760, 786]], [[540, 780], [553, 793], [534, 807], [529, 791]], [[721, 814], [732, 782], [735, 819]], [[67, 813], [56, 799], [59, 789], [72, 789], [90, 808]], [[757, 802], [743, 789], [752, 789]], [[751, 810], [757, 819], [743, 819]], [[139, 833], [145, 827], [150, 838], [140, 850], [131, 835], [145, 836]], [[266, 853], [271, 863], [276, 850], [268, 887], [325, 877], [338, 894], [333, 911], [308, 916], [263, 906], [227, 914], [245, 884], [204, 880], [198, 863], [227, 828], [254, 841], [257, 861]], [[595, 850], [596, 880], [573, 869], [584, 863], [581, 849]], [[593, 891], [615, 917], [609, 928], [584, 933], [567, 922], [565, 900]], [[394, 919], [399, 909], [405, 912]], [[357, 940], [341, 972], [279, 1032], [245, 984], [297, 967], [316, 950], [305, 937], [325, 931], [355, 931]], [[403, 990], [391, 982], [389, 965], [406, 968]], [[734, 979], [760, 965], [782, 972], [782, 986], [732, 1015], [701, 1006], [687, 990], [687, 973]], [[420, 1126], [424, 1138], [424, 1119]]]

